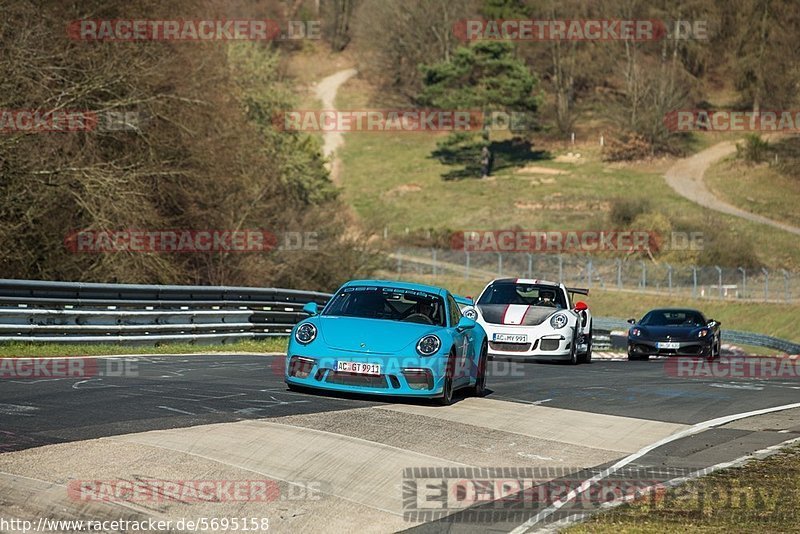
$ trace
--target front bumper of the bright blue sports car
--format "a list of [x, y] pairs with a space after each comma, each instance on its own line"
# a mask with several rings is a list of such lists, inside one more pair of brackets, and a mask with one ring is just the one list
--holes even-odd
[[[381, 365], [367, 375], [336, 371], [336, 361]], [[324, 357], [292, 354], [286, 357], [284, 380], [289, 385], [344, 393], [402, 397], [441, 397], [445, 364], [441, 356], [395, 357], [346, 353]]]

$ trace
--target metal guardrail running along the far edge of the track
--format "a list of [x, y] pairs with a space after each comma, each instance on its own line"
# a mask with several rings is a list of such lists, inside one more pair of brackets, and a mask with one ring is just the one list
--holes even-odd
[[[0, 342], [156, 344], [226, 343], [286, 336], [307, 302], [328, 293], [294, 289], [97, 284], [0, 279]], [[610, 347], [621, 319], [593, 318], [597, 348]], [[800, 344], [722, 331], [722, 339], [790, 354]]]

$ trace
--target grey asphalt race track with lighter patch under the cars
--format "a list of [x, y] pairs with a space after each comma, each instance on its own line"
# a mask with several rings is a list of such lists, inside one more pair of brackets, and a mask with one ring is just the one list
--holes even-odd
[[[704, 424], [797, 403], [799, 378], [685, 378], [666, 360], [495, 361], [490, 393], [450, 407], [290, 392], [275, 356], [100, 360], [126, 372], [0, 382], [0, 507], [15, 517], [257, 516], [278, 532], [522, 532], [597, 503], [559, 509], [550, 495], [531, 502], [520, 492], [499, 509], [444, 495], [448, 480], [556, 479], [569, 482], [563, 497], [598, 474], [646, 485], [800, 437], [800, 408]], [[98, 501], [70, 490], [75, 481], [152, 479], [268, 479], [278, 492]]]

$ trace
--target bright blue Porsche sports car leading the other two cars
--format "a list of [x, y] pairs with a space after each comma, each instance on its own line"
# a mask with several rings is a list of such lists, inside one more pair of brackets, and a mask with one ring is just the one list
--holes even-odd
[[446, 289], [384, 280], [344, 284], [292, 330], [289, 389], [437, 398], [486, 390], [486, 333]]

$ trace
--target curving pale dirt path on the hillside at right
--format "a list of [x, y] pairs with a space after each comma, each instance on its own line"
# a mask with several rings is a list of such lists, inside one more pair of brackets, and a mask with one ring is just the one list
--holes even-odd
[[774, 228], [779, 228], [793, 234], [800, 235], [800, 228], [779, 221], [768, 219], [763, 215], [751, 213], [737, 208], [727, 202], [717, 198], [708, 189], [703, 181], [706, 170], [720, 159], [736, 152], [736, 144], [730, 141], [718, 143], [710, 148], [698, 152], [694, 156], [684, 158], [666, 172], [664, 178], [672, 189], [679, 195], [688, 198], [706, 208], [727, 213], [734, 217], [741, 217], [748, 221], [768, 224]]

